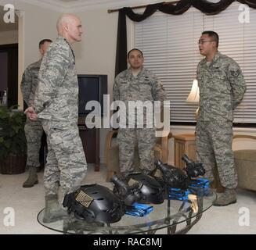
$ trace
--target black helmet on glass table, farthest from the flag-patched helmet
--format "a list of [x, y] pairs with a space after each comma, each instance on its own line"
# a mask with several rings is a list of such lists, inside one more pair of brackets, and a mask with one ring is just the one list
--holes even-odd
[[168, 187], [181, 189], [187, 189], [189, 187], [189, 177], [182, 170], [175, 166], [164, 164], [160, 160], [157, 160], [155, 165], [160, 169], [163, 180]]

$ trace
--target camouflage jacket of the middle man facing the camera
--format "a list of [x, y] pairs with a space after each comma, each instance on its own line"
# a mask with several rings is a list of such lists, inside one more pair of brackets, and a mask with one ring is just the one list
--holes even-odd
[[[117, 75], [113, 87], [114, 100], [125, 102], [128, 119], [128, 101], [164, 101], [166, 93], [157, 76], [150, 70], [142, 67], [139, 74], [134, 77], [132, 70], [124, 70]], [[139, 113], [137, 116], [142, 116]], [[146, 124], [146, 112], [143, 112]]]

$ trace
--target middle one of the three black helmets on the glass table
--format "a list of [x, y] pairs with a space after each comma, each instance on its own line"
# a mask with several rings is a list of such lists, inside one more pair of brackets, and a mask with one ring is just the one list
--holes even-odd
[[138, 183], [140, 192], [140, 203], [160, 204], [164, 202], [164, 187], [153, 177], [145, 173], [131, 173], [127, 177], [127, 182]]

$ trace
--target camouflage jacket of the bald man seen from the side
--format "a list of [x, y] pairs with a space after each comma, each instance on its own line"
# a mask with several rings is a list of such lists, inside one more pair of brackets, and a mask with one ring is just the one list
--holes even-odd
[[42, 59], [34, 110], [41, 119], [78, 122], [78, 76], [64, 37], [58, 36]]

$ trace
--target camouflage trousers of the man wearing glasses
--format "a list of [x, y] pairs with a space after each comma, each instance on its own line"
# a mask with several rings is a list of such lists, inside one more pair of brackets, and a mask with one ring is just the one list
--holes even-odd
[[232, 121], [197, 121], [196, 135], [197, 161], [204, 164], [205, 177], [213, 180], [217, 167], [222, 186], [236, 188]]

